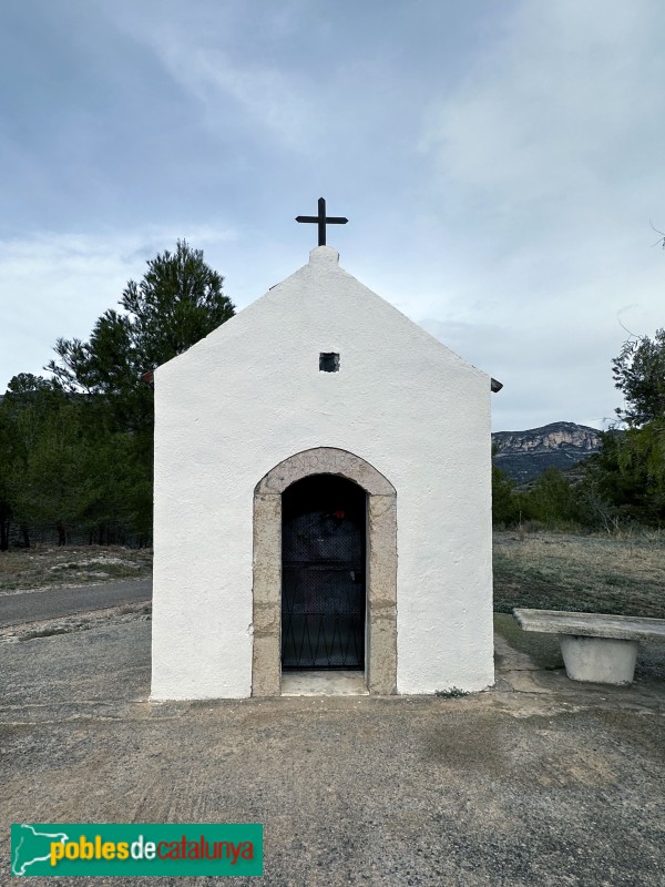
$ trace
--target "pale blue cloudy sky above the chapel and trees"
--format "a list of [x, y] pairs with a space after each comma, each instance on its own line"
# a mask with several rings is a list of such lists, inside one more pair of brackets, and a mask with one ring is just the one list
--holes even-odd
[[662, 0], [3, 0], [0, 390], [178, 237], [244, 307], [325, 196], [495, 430], [606, 427], [665, 326], [664, 45]]

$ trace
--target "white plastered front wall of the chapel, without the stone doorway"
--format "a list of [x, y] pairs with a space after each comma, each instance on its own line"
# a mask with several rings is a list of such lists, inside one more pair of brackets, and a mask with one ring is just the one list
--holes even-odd
[[332, 252], [156, 373], [155, 699], [250, 694], [254, 490], [317, 447], [397, 490], [398, 692], [493, 681], [489, 377]]

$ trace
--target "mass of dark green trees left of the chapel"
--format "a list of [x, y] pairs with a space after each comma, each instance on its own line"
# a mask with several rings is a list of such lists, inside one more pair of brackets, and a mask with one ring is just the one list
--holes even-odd
[[152, 371], [235, 309], [203, 252], [178, 241], [130, 281], [88, 341], [58, 339], [49, 377], [20, 373], [0, 404], [0, 550], [41, 533], [149, 544]]

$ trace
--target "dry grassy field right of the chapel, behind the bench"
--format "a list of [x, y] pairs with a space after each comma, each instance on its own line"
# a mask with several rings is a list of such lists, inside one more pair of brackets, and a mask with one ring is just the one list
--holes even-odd
[[494, 533], [494, 610], [665, 618], [665, 533]]

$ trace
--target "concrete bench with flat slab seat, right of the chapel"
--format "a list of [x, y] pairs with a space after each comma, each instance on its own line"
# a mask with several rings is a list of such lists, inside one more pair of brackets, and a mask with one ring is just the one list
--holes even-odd
[[665, 619], [521, 608], [513, 615], [524, 631], [559, 635], [565, 671], [573, 681], [631, 684], [640, 641], [665, 640]]

